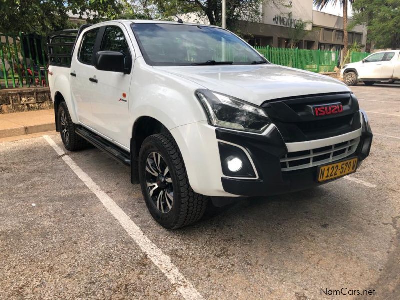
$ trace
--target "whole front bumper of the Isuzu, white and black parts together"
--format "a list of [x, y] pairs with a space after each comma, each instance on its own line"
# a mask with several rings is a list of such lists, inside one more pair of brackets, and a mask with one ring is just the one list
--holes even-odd
[[[176, 127], [170, 132], [181, 151], [190, 186], [197, 193], [213, 197], [267, 196], [323, 184], [316, 181], [317, 166], [282, 171], [281, 157], [287, 152], [323, 147], [360, 137], [351, 156], [358, 156], [362, 161], [369, 155], [372, 143], [372, 132], [364, 117], [362, 127], [356, 131], [298, 143], [285, 143], [274, 125], [264, 134], [254, 134], [215, 128], [204, 120]], [[255, 176], [226, 176], [221, 164], [220, 143], [236, 145], [244, 150], [255, 169]]]

